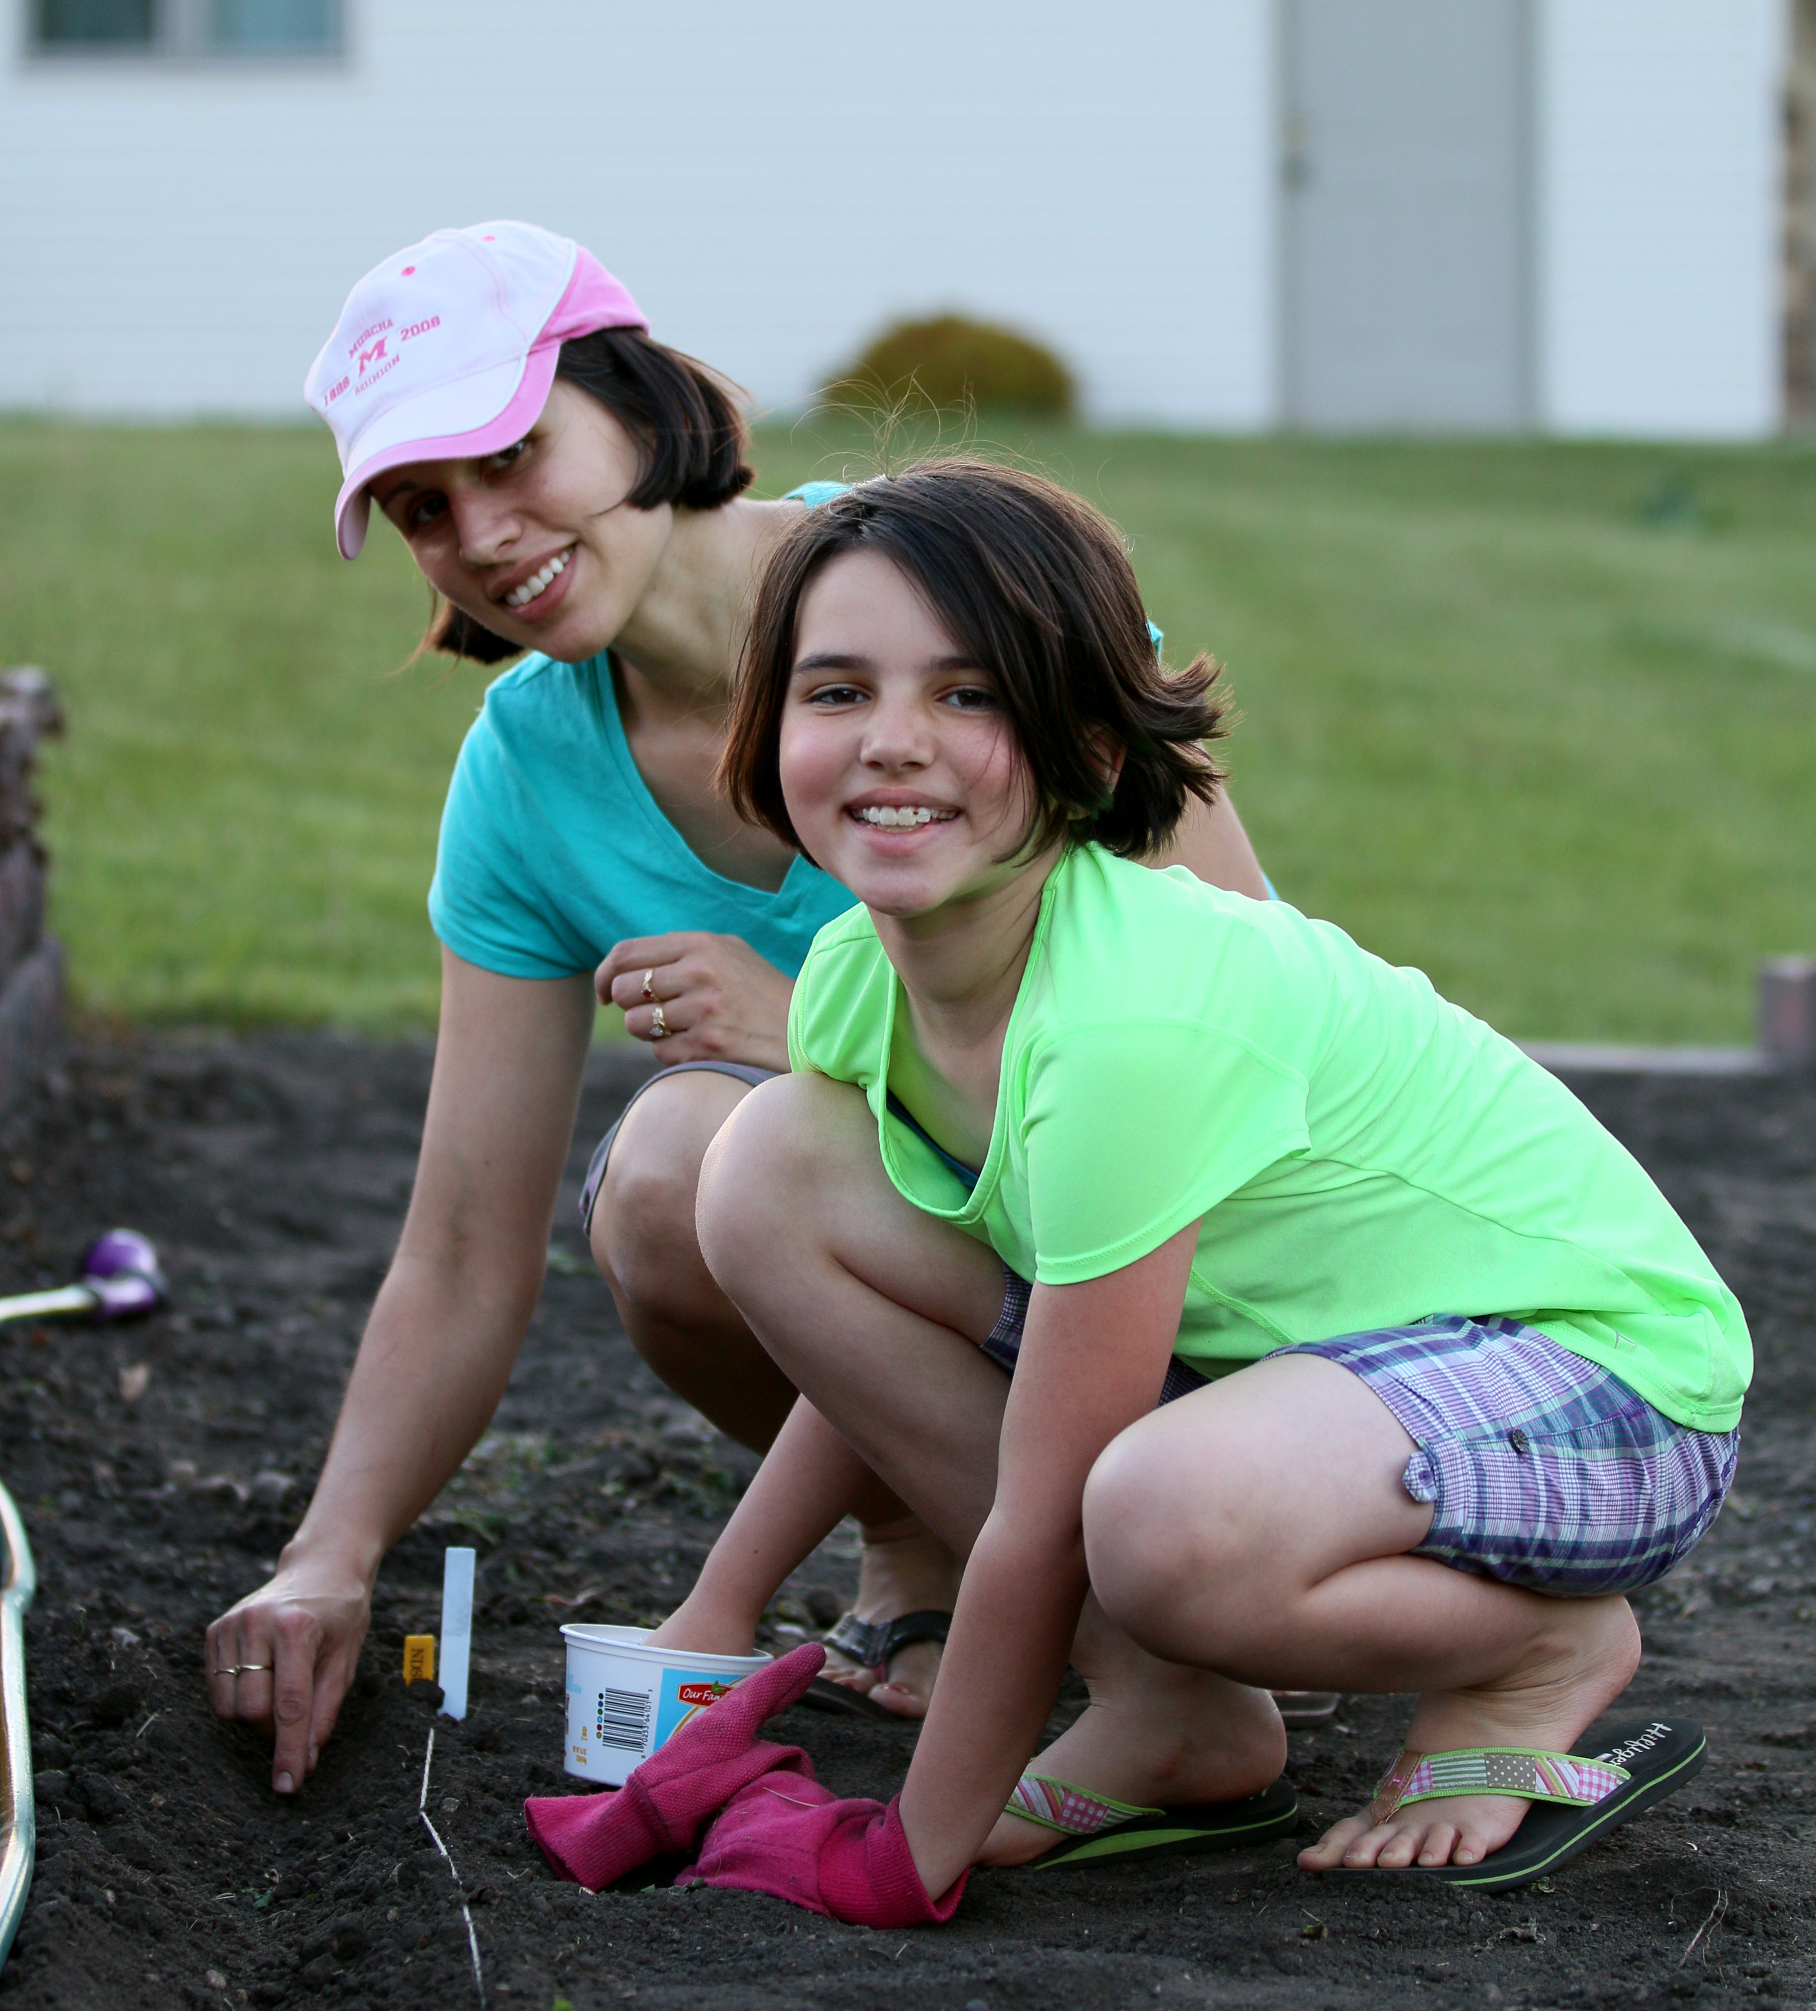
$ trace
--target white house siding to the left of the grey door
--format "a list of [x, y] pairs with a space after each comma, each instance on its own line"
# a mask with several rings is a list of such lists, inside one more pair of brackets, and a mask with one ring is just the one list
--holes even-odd
[[1054, 342], [1100, 416], [1275, 410], [1269, 0], [346, 0], [334, 62], [0, 42], [0, 406], [296, 414], [440, 223], [591, 245], [762, 404], [891, 316]]

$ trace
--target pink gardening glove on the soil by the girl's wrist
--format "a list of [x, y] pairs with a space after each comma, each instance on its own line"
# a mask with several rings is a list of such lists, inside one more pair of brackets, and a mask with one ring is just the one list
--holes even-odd
[[706, 1832], [694, 1878], [770, 1892], [853, 1927], [935, 1927], [949, 1921], [969, 1872], [929, 1898], [901, 1830], [901, 1796], [841, 1802], [798, 1768], [778, 1766], [740, 1788]]

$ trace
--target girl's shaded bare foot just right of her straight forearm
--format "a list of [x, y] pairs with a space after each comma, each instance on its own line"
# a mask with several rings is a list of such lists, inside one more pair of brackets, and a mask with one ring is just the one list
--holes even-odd
[[[1134, 1808], [1176, 1808], [1261, 1794], [1285, 1764], [1287, 1733], [1265, 1689], [1142, 1657], [1092, 1683], [1084, 1715], [1030, 1772]], [[1058, 1830], [1002, 1816], [977, 1862], [1026, 1864], [1058, 1842]]]

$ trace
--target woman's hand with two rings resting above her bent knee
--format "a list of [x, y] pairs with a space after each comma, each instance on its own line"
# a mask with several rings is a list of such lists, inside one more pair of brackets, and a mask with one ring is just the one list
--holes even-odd
[[593, 973], [601, 1006], [670, 1062], [746, 1062], [788, 1070], [794, 983], [742, 937], [676, 929], [615, 943]]

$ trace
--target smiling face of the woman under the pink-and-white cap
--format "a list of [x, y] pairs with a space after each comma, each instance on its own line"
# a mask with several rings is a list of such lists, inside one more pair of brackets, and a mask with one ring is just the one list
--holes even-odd
[[515, 444], [481, 461], [416, 461], [372, 481], [422, 577], [463, 613], [563, 664], [619, 635], [656, 573], [670, 505], [635, 509], [638, 442], [563, 384]]

